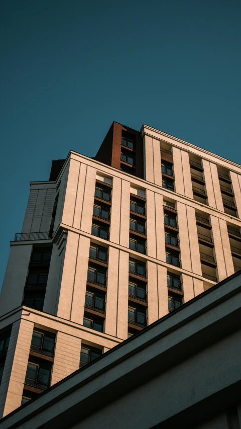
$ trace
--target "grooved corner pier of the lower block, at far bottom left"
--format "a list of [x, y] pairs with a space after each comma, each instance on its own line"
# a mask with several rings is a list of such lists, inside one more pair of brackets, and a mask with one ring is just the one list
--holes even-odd
[[0, 415], [3, 417], [21, 405], [33, 328], [34, 323], [25, 319], [13, 323], [0, 387]]

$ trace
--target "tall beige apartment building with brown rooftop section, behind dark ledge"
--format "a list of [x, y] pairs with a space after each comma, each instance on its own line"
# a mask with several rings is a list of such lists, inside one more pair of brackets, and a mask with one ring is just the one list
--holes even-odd
[[0, 298], [6, 415], [241, 269], [241, 166], [113, 123], [31, 182]]

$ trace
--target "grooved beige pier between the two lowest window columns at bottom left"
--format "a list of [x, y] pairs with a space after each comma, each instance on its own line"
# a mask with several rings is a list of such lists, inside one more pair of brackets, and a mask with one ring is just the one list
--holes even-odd
[[51, 386], [79, 369], [81, 339], [58, 331]]

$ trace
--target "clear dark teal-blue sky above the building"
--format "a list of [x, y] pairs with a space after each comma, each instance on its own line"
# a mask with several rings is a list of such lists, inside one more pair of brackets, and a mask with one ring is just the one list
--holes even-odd
[[240, 20], [240, 0], [1, 1], [1, 284], [29, 182], [113, 120], [241, 163]]

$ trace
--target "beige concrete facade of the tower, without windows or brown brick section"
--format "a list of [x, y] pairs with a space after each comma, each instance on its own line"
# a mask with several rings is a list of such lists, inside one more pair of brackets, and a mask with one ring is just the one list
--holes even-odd
[[[2, 415], [21, 404], [35, 328], [55, 335], [54, 357], [48, 361], [51, 385], [79, 368], [81, 344], [104, 353], [143, 328], [146, 318], [148, 325], [155, 322], [173, 309], [171, 305], [186, 303], [233, 274], [238, 260], [241, 267], [241, 166], [146, 125], [141, 131], [145, 180], [71, 151], [56, 182], [31, 183], [23, 233], [38, 234], [43, 227], [48, 231], [56, 196], [58, 203], [52, 238], [29, 235], [11, 242], [0, 299], [0, 332], [12, 328], [0, 386]], [[164, 143], [173, 160], [174, 174], [169, 179], [173, 189], [162, 186], [167, 177], [161, 165]], [[191, 174], [189, 159], [196, 160], [197, 178]], [[223, 194], [220, 171], [228, 171], [225, 183], [231, 192]], [[109, 201], [101, 201], [95, 188], [108, 192]], [[49, 211], [42, 202], [46, 195], [52, 196]], [[232, 214], [224, 211], [223, 199], [228, 198], [234, 201]], [[130, 214], [131, 200], [145, 208], [146, 216]], [[108, 210], [109, 220], [93, 217], [94, 205]], [[146, 235], [130, 230], [130, 216], [142, 222]], [[168, 224], [169, 218], [176, 223]], [[92, 224], [107, 228], [107, 236], [93, 234]], [[236, 231], [236, 242], [230, 229]], [[170, 237], [174, 241], [168, 245]], [[130, 238], [146, 252], [129, 248]], [[105, 262], [89, 257], [91, 245], [106, 251]], [[29, 270], [36, 268], [31, 266], [31, 255], [41, 246], [52, 247], [43, 312], [22, 307]], [[130, 260], [145, 267], [145, 276], [129, 272]], [[105, 284], [98, 283], [97, 277], [91, 283], [88, 269], [95, 270], [96, 276], [102, 273]], [[179, 286], [171, 287], [170, 279], [179, 279]], [[131, 296], [129, 282], [145, 289], [147, 298]], [[103, 312], [98, 313], [98, 306], [86, 306], [86, 291], [103, 300]], [[136, 324], [130, 322], [129, 307], [136, 311]], [[92, 320], [92, 328], [84, 326], [86, 320]], [[102, 331], [93, 328], [95, 320], [102, 323]], [[33, 356], [36, 362], [46, 359]]]

